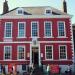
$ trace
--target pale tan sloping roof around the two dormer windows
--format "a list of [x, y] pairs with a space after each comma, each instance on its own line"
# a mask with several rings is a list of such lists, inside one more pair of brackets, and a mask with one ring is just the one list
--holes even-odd
[[12, 10], [10, 10], [6, 14], [2, 14], [5, 16], [15, 16], [16, 11], [18, 9], [23, 9], [24, 14], [23, 15], [44, 15], [46, 9], [50, 9], [52, 11], [52, 15], [68, 15], [65, 12], [62, 12], [61, 10], [55, 9], [51, 6], [37, 6], [37, 7], [17, 7]]

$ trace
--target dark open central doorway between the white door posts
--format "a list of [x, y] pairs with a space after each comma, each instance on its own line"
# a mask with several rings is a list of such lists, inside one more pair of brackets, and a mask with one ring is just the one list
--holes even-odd
[[38, 47], [32, 47], [32, 63], [34, 65], [38, 65], [39, 64]]

